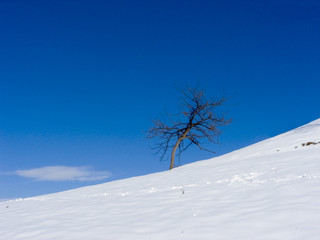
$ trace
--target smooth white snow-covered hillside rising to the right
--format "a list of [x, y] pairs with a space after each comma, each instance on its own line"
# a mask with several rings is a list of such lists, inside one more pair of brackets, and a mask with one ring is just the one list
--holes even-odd
[[319, 239], [319, 142], [320, 119], [171, 171], [1, 202], [0, 239]]

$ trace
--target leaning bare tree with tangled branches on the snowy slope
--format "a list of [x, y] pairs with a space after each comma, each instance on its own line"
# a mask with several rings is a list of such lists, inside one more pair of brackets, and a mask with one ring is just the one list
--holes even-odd
[[216, 107], [225, 103], [225, 98], [217, 101], [208, 100], [203, 91], [197, 88], [191, 88], [182, 94], [184, 110], [174, 115], [178, 120], [172, 121], [170, 125], [156, 120], [147, 135], [148, 138], [157, 140], [153, 149], [156, 150], [156, 154], [160, 154], [161, 159], [166, 156], [169, 149], [172, 149], [169, 170], [174, 168], [177, 150], [179, 157], [192, 145], [212, 152], [202, 146], [203, 141], [218, 143], [221, 134], [219, 127], [230, 123], [230, 120], [218, 116], [215, 112]]

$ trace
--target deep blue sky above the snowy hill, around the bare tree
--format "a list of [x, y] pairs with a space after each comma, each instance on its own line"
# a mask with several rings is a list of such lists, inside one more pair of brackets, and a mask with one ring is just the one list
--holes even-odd
[[0, 1], [0, 199], [167, 170], [144, 131], [184, 87], [231, 98], [217, 155], [319, 118], [319, 12], [312, 0]]

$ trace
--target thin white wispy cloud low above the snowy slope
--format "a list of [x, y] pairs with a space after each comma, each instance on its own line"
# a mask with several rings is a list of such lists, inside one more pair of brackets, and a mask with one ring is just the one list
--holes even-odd
[[48, 166], [17, 170], [13, 174], [38, 181], [94, 181], [110, 177], [107, 171], [93, 171], [90, 167]]

